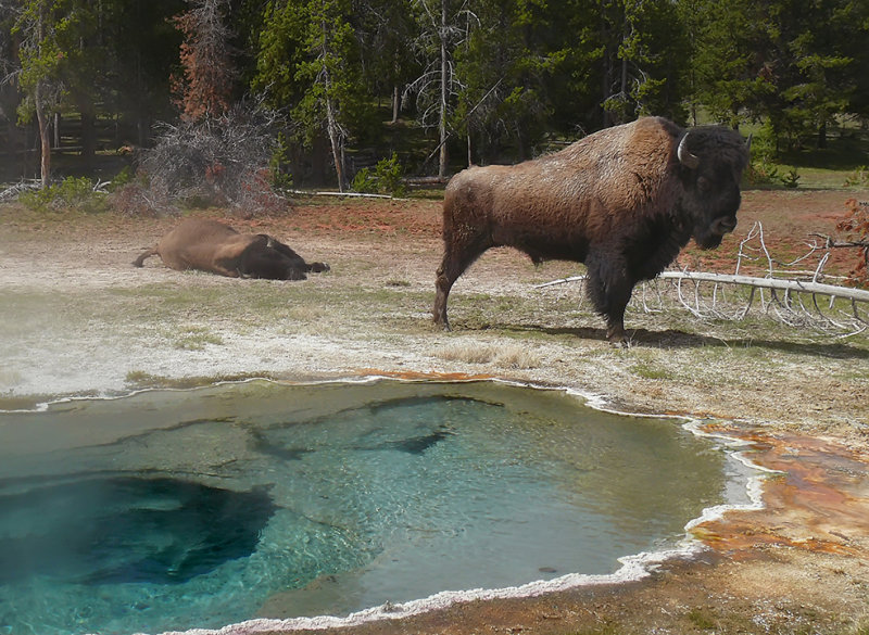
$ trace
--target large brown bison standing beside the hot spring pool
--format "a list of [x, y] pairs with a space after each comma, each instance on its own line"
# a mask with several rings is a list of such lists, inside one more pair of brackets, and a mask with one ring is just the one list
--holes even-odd
[[733, 130], [683, 130], [645, 117], [514, 166], [471, 167], [443, 201], [443, 262], [434, 321], [449, 330], [455, 280], [486, 250], [512, 246], [537, 264], [584, 263], [606, 336], [627, 344], [625, 307], [691, 237], [715, 249], [736, 227], [748, 144]]

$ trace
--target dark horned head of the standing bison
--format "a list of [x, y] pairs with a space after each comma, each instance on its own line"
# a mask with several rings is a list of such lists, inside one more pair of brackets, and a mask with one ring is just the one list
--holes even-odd
[[681, 211], [693, 224], [692, 236], [702, 249], [717, 247], [736, 228], [748, 148], [736, 131], [719, 126], [694, 128], [679, 142]]

